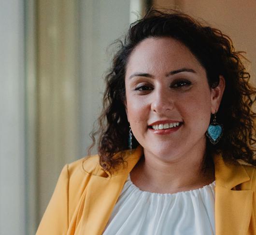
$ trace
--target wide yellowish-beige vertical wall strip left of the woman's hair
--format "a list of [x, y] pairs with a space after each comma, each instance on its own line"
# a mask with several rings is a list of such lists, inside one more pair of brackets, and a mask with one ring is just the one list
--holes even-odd
[[77, 8], [75, 1], [37, 1], [38, 220], [61, 168], [79, 155]]

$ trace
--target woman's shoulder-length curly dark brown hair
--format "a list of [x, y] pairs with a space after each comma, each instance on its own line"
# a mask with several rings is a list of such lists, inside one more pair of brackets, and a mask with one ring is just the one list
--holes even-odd
[[[123, 156], [114, 157], [128, 149], [129, 123], [124, 102], [126, 100], [125, 73], [129, 55], [144, 39], [171, 37], [182, 42], [205, 68], [209, 86], [219, 84], [219, 76], [226, 81], [226, 88], [217, 113], [217, 120], [224, 125], [221, 140], [213, 145], [207, 138], [206, 154], [209, 159], [222, 153], [224, 159], [256, 166], [255, 143], [256, 88], [250, 85], [250, 74], [242, 63], [242, 52], [234, 50], [231, 39], [220, 30], [204, 26], [185, 13], [150, 10], [142, 19], [131, 24], [124, 41], [118, 40], [118, 52], [106, 76], [103, 110], [98, 118], [98, 130], [91, 133], [93, 144], [99, 135], [98, 154], [104, 170], [116, 169], [124, 162]], [[139, 143], [134, 138], [133, 147]], [[207, 161], [205, 161], [207, 162]]]

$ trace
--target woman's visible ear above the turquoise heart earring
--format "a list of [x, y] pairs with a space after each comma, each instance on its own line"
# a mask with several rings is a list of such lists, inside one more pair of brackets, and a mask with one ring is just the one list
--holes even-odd
[[218, 86], [216, 86], [215, 88], [211, 88], [211, 112], [212, 114], [214, 114], [216, 111], [218, 111], [221, 100], [222, 100], [222, 96], [225, 90], [225, 78], [220, 75], [219, 76], [219, 84]]

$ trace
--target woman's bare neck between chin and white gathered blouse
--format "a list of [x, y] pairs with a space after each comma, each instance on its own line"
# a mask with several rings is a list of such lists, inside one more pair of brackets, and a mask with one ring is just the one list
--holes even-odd
[[215, 179], [213, 163], [202, 170], [203, 155], [168, 161], [146, 151], [144, 154], [130, 172], [131, 181], [143, 191], [171, 194], [201, 188]]

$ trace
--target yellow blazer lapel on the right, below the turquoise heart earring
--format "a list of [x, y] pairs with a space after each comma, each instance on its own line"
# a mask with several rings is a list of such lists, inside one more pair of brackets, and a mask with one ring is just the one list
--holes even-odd
[[214, 157], [214, 165], [216, 235], [245, 235], [251, 219], [253, 191], [235, 187], [250, 177], [241, 165], [228, 164], [220, 155]]

